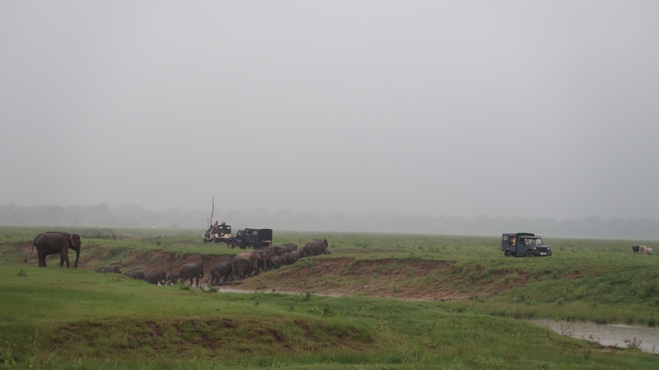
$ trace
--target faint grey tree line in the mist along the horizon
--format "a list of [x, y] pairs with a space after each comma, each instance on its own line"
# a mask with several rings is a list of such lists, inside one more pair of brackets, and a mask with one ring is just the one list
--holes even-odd
[[[94, 206], [0, 207], [3, 226], [71, 227], [208, 227], [209, 214], [168, 209], [146, 210], [136, 206], [110, 208]], [[252, 209], [215, 210], [219, 221], [240, 229], [267, 227], [274, 230], [376, 232], [395, 234], [441, 234], [498, 236], [502, 233], [532, 232], [543, 236], [659, 240], [659, 222], [650, 218], [586, 217], [580, 220], [526, 217], [430, 217], [402, 215], [397, 212], [341, 213], [334, 211], [296, 212], [291, 210]]]

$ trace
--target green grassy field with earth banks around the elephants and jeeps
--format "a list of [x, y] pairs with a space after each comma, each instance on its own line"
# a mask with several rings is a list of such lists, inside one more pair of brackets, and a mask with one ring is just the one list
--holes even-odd
[[659, 257], [631, 251], [659, 250], [656, 242], [545, 236], [554, 255], [526, 259], [504, 257], [500, 236], [278, 232], [275, 244], [327, 237], [332, 254], [245, 279], [236, 288], [248, 293], [238, 293], [93, 271], [239, 252], [204, 245], [200, 231], [116, 229], [113, 238], [66, 229], [83, 238], [79, 269], [60, 268], [59, 257], [47, 268], [35, 256], [23, 264], [45, 230], [0, 227], [0, 366], [659, 367], [635, 347], [601, 347], [520, 320], [656, 325]]

